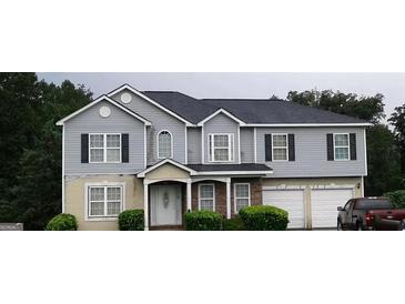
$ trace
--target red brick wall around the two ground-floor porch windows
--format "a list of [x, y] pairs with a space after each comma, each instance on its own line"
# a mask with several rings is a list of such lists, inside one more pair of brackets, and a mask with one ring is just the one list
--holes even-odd
[[[203, 181], [193, 183], [191, 188], [191, 204], [193, 210], [199, 210], [199, 184], [214, 184], [215, 185], [215, 211], [226, 216], [226, 183], [216, 181]], [[250, 183], [251, 184], [251, 205], [262, 204], [262, 179], [232, 179], [231, 180], [231, 215], [234, 214], [234, 184]]]

